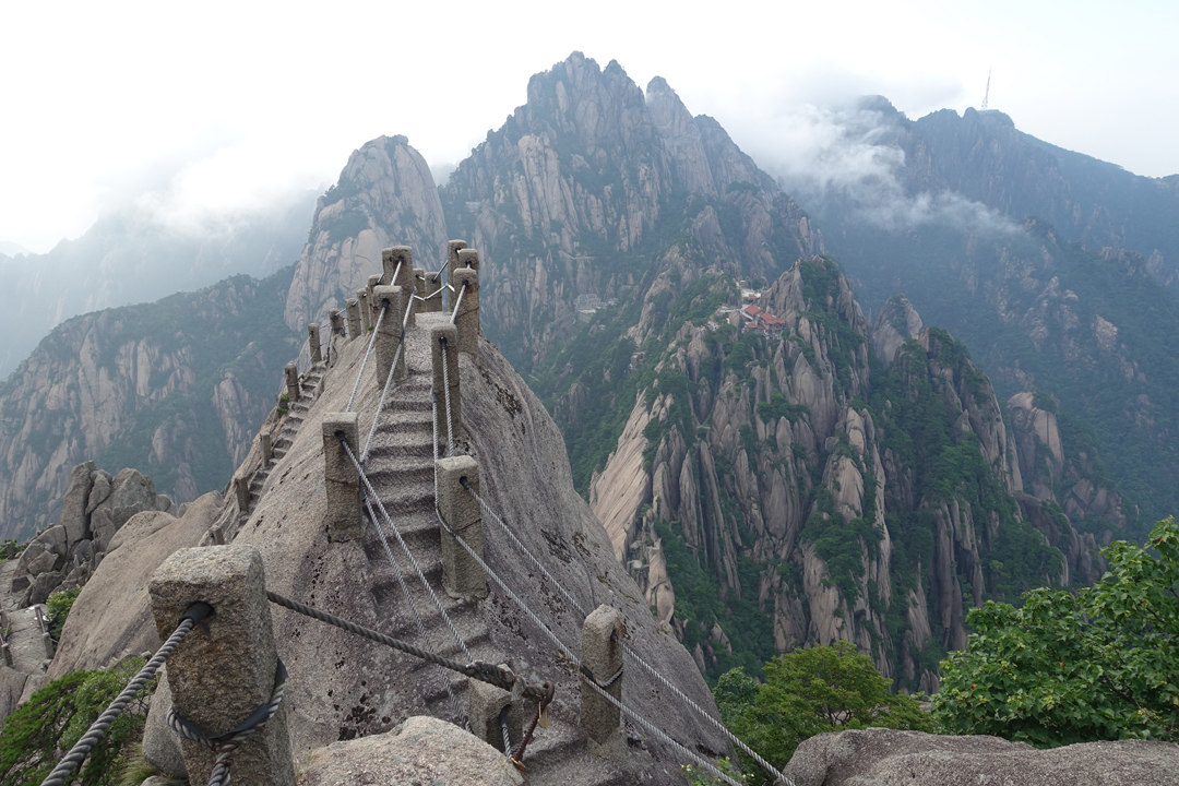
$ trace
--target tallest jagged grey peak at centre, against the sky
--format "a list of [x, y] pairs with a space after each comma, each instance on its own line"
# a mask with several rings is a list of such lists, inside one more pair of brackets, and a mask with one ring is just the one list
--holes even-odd
[[730, 272], [773, 277], [822, 249], [799, 207], [666, 81], [646, 95], [618, 62], [573, 53], [442, 189], [453, 235], [480, 250], [485, 326], [531, 368], [575, 317], [575, 298], [646, 291], [677, 236]]

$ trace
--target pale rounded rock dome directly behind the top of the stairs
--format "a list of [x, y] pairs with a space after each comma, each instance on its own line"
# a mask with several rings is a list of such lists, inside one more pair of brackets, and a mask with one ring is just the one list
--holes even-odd
[[410, 245], [419, 266], [437, 269], [446, 253], [446, 220], [429, 166], [401, 136], [377, 137], [354, 151], [340, 180], [315, 206], [311, 231], [286, 295], [286, 325], [327, 323], [344, 310], [371, 273], [381, 250]]

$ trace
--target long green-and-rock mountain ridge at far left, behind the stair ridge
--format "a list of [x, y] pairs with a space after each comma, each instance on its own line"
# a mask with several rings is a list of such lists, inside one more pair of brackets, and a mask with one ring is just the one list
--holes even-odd
[[290, 269], [59, 325], [0, 385], [5, 537], [58, 519], [74, 464], [138, 465], [177, 503], [220, 488], [274, 405], [297, 339]]

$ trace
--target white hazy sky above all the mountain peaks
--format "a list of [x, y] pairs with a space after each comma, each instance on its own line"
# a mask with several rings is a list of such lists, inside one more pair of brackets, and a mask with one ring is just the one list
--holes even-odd
[[994, 68], [1022, 131], [1179, 172], [1173, 1], [4, 0], [0, 29], [0, 240], [40, 252], [127, 200], [184, 217], [327, 186], [380, 134], [453, 164], [574, 49], [665, 77], [768, 169], [804, 154], [808, 104], [961, 112]]

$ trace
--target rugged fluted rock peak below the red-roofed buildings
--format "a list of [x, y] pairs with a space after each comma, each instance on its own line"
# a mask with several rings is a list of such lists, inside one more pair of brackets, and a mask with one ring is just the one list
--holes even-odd
[[1060, 509], [1016, 498], [1020, 462], [1036, 461], [1020, 447], [1035, 445], [911, 304], [889, 303], [870, 335], [822, 258], [762, 295], [776, 332], [738, 336], [732, 297], [702, 279], [676, 306], [694, 321], [632, 331], [658, 359], [590, 484], [615, 555], [702, 671], [845, 639], [929, 691], [971, 606], [1092, 574], [1092, 536], [1065, 515], [1038, 529]]

